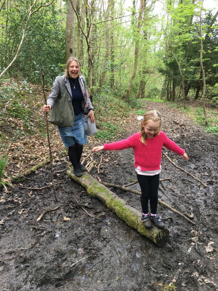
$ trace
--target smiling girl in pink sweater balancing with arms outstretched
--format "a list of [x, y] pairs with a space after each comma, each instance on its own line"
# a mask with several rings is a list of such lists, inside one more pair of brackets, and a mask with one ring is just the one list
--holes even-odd
[[[134, 133], [125, 140], [104, 144], [92, 149], [124, 150], [133, 148], [135, 155], [135, 170], [141, 188], [142, 222], [146, 228], [152, 227], [152, 222], [160, 229], [165, 224], [157, 216], [158, 186], [161, 172], [162, 146], [172, 150], [182, 159], [188, 156], [174, 141], [171, 141], [161, 128], [161, 115], [157, 110], [148, 111], [142, 117], [141, 131]], [[148, 215], [148, 200], [150, 200], [150, 215]]]

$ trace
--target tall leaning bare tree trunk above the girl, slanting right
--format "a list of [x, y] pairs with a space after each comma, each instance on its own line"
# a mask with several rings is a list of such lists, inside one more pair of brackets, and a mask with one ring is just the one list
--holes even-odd
[[136, 72], [137, 72], [137, 68], [138, 68], [138, 49], [139, 49], [139, 42], [140, 42], [140, 29], [142, 26], [142, 15], [143, 15], [143, 10], [144, 10], [144, 0], [140, 1], [140, 12], [139, 12], [139, 16], [138, 16], [138, 24], [137, 24], [137, 34], [136, 37], [136, 41], [135, 41], [135, 52], [134, 52], [134, 65], [133, 65], [133, 72], [132, 75], [130, 77], [129, 80], [129, 85], [125, 94], [125, 98], [128, 99], [131, 91], [132, 91], [132, 87], [133, 87], [133, 79], [135, 78]]

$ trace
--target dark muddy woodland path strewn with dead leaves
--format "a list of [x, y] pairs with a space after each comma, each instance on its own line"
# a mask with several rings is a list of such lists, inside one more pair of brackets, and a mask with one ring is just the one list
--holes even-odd
[[[168, 243], [157, 247], [71, 180], [66, 175], [66, 157], [60, 155], [54, 165], [59, 202], [54, 201], [51, 187], [1, 192], [0, 290], [166, 290], [174, 277], [177, 291], [217, 290], [217, 137], [165, 104], [147, 102], [144, 106], [162, 112], [162, 130], [186, 150], [189, 161], [166, 149], [163, 152], [207, 184], [204, 187], [163, 156], [160, 177], [172, 180], [162, 182], [159, 197], [175, 209], [193, 214], [196, 225], [158, 205], [158, 214], [173, 222], [166, 221]], [[139, 129], [137, 116], [130, 118], [132, 130], [124, 132], [125, 137]], [[100, 154], [92, 156], [100, 160]], [[136, 179], [133, 150], [107, 151], [102, 156], [100, 174], [94, 169], [94, 177], [118, 185]], [[46, 186], [50, 167], [27, 178], [15, 184]], [[140, 190], [138, 184], [130, 188]], [[138, 195], [113, 191], [141, 210]], [[44, 210], [57, 206], [60, 208], [36, 222]]]

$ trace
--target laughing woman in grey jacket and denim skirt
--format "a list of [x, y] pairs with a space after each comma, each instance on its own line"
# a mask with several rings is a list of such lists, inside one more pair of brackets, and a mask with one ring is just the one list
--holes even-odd
[[47, 105], [42, 108], [44, 112], [51, 110], [49, 121], [58, 126], [61, 139], [65, 147], [68, 147], [74, 175], [77, 177], [82, 176], [81, 171], [86, 170], [80, 162], [83, 145], [87, 143], [82, 116], [85, 108], [89, 111], [87, 118], [90, 117], [91, 122], [94, 122], [94, 109], [80, 68], [77, 58], [68, 59], [65, 74], [56, 77]]

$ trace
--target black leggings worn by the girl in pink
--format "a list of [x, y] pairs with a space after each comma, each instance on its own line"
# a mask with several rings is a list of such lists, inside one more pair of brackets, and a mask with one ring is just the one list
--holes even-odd
[[160, 174], [154, 176], [137, 175], [138, 183], [141, 188], [142, 212], [148, 213], [148, 200], [150, 199], [150, 210], [152, 214], [157, 214], [158, 186]]

